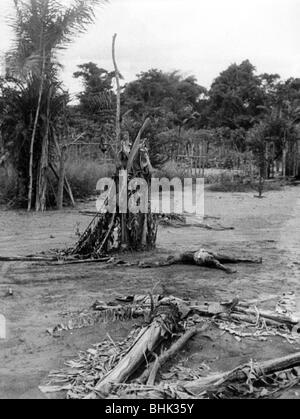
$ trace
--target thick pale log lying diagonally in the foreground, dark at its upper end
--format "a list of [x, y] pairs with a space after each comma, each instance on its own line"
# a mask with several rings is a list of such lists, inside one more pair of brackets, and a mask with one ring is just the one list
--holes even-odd
[[118, 365], [110, 371], [95, 387], [97, 392], [107, 394], [111, 384], [126, 381], [145, 362], [148, 362], [155, 350], [177, 329], [180, 315], [175, 304], [159, 305], [155, 309], [154, 320], [144, 327], [128, 353]]

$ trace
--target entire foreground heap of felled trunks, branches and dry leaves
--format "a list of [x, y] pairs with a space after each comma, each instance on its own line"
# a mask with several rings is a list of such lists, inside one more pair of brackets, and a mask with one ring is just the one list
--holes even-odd
[[109, 342], [81, 354], [78, 360], [68, 363], [71, 371], [51, 374], [52, 381], [42, 386], [42, 391], [67, 391], [68, 398], [260, 398], [275, 396], [279, 390], [299, 383], [299, 353], [177, 383], [166, 382], [163, 374], [159, 374], [191, 338], [207, 330], [211, 324], [208, 318], [213, 322], [227, 319], [255, 326], [262, 319], [270, 327], [284, 327], [290, 332], [297, 319], [267, 310], [258, 312], [250, 303], [238, 299], [194, 303], [175, 297], [142, 295], [120, 297], [115, 304], [97, 301], [93, 310], [101, 316], [115, 311], [117, 320], [122, 310], [128, 313], [139, 308], [139, 315], [146, 314], [147, 322], [134, 329], [124, 342], [115, 343], [109, 337]]

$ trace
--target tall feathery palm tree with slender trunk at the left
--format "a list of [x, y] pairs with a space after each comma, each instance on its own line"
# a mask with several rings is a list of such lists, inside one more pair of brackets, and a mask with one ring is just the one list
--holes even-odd
[[[28, 210], [32, 209], [34, 188], [36, 210], [46, 208], [49, 151], [53, 141], [51, 104], [61, 90], [57, 53], [86, 30], [94, 21], [95, 6], [105, 2], [73, 0], [71, 6], [65, 7], [56, 0], [14, 0], [16, 13], [11, 26], [15, 42], [6, 57], [7, 73], [35, 92], [28, 130], [31, 132], [30, 141], [27, 138]], [[66, 98], [64, 93], [61, 94]]]

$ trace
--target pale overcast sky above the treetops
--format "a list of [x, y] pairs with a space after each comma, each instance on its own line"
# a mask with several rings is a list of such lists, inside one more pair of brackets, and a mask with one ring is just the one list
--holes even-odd
[[[1, 53], [9, 47], [5, 16], [12, 3], [0, 0]], [[299, 23], [300, 0], [110, 0], [64, 53], [63, 79], [75, 93], [78, 64], [94, 61], [111, 70], [115, 32], [126, 81], [150, 68], [178, 69], [209, 87], [220, 71], [247, 58], [260, 73], [300, 77]]]

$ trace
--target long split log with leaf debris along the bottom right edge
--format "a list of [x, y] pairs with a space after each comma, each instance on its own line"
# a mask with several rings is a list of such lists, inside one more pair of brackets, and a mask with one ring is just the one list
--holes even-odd
[[[300, 352], [263, 362], [250, 362], [220, 374], [190, 382], [160, 385], [115, 385], [111, 395], [119, 398], [274, 398], [300, 384]], [[110, 397], [111, 397], [110, 395]]]

